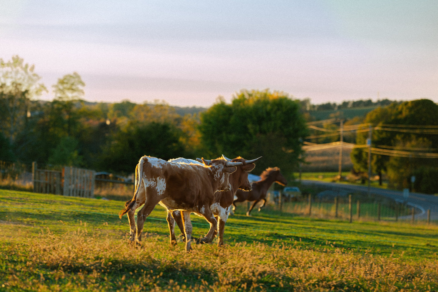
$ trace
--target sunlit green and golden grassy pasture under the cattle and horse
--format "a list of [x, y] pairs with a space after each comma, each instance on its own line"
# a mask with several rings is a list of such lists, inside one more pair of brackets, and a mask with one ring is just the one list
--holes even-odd
[[[0, 190], [0, 291], [437, 291], [438, 227], [228, 219], [225, 247], [169, 245], [163, 208], [128, 244], [121, 201]], [[192, 215], [194, 236], [208, 226]]]

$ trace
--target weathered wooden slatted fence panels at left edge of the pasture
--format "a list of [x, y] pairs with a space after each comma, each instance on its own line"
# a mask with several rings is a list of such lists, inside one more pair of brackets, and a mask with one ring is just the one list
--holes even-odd
[[94, 197], [95, 171], [65, 166], [62, 171], [38, 169], [32, 163], [33, 191], [73, 197]]

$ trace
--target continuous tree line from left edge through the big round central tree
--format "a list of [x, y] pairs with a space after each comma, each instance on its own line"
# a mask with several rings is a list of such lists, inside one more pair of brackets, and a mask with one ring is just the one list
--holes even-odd
[[269, 166], [292, 172], [307, 135], [300, 102], [283, 92], [242, 90], [231, 104], [219, 99], [196, 113], [165, 102], [85, 102], [77, 72], [53, 84], [53, 101], [40, 101], [48, 89], [19, 56], [0, 59], [0, 78], [2, 161], [128, 174], [142, 155], [167, 160], [224, 154], [263, 156], [254, 173]]

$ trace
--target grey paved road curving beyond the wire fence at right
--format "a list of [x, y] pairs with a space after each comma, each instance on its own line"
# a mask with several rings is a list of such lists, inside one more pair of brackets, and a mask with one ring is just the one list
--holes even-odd
[[[343, 183], [326, 183], [317, 180], [302, 180], [301, 183], [309, 185], [314, 184], [318, 186], [325, 186], [331, 190], [353, 190], [367, 192], [367, 186], [354, 186], [347, 185]], [[370, 188], [371, 193], [375, 193], [381, 196], [392, 198], [396, 201], [403, 202], [403, 192], [396, 190], [383, 190], [376, 187]], [[427, 195], [425, 193], [410, 193], [409, 198], [406, 202], [408, 205], [418, 208], [420, 210], [419, 214], [415, 215], [416, 219], [426, 220], [427, 219], [427, 209], [431, 210], [431, 220], [438, 220], [438, 197], [433, 195]], [[404, 216], [404, 218], [411, 218], [411, 216]]]

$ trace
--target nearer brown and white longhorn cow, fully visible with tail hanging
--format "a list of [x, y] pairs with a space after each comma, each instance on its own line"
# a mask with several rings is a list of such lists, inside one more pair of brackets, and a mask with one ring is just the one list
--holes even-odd
[[[243, 162], [228, 162], [213, 159], [204, 165], [179, 164], [143, 156], [135, 169], [135, 191], [131, 201], [125, 203], [119, 217], [128, 214], [131, 228], [130, 239], [141, 243], [141, 234], [146, 218], [160, 204], [167, 210], [184, 210], [182, 219], [186, 238], [191, 238], [192, 225], [190, 213], [205, 217], [210, 223], [210, 230], [204, 237], [210, 242], [215, 232], [217, 221], [210, 209], [217, 190], [230, 190], [228, 181], [230, 173], [236, 171]], [[137, 229], [134, 212], [142, 204], [145, 206], [137, 214]], [[191, 250], [190, 240], [186, 240], [186, 251]]]

